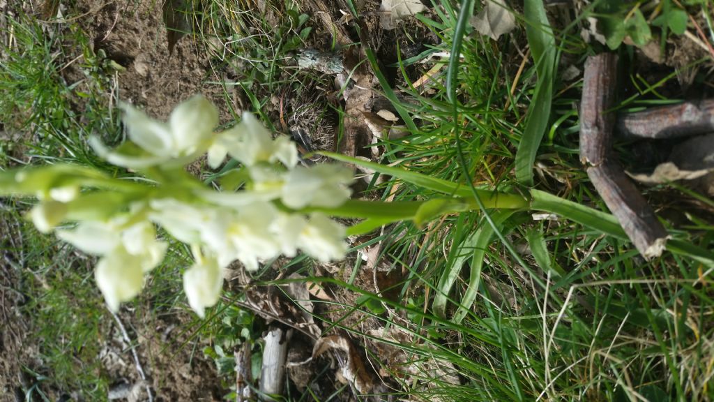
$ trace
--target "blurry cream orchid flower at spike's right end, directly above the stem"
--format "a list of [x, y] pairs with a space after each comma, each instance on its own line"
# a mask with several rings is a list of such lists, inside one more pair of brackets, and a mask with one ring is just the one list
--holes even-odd
[[282, 189], [283, 204], [299, 210], [313, 207], [339, 207], [352, 194], [352, 170], [341, 165], [298, 166], [288, 172]]

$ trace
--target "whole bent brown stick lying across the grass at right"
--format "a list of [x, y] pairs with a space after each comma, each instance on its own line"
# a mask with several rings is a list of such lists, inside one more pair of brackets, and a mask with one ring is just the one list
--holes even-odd
[[580, 102], [580, 161], [595, 190], [644, 258], [662, 254], [667, 231], [618, 162], [610, 159], [615, 116], [606, 113], [615, 99], [617, 57], [599, 54], [585, 62]]

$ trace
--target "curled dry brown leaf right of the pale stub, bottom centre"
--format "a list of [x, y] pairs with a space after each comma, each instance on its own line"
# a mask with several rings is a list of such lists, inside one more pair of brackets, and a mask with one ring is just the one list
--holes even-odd
[[347, 362], [340, 373], [345, 381], [353, 383], [360, 393], [368, 393], [374, 388], [372, 376], [367, 372], [362, 358], [348, 338], [331, 335], [318, 339], [313, 347], [313, 358], [318, 358], [330, 349], [337, 349], [347, 354]]

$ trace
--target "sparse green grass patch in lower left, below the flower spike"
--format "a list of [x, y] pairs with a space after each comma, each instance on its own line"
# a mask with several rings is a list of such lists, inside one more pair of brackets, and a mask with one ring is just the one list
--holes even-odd
[[[17, 264], [21, 273], [16, 290], [26, 296], [23, 315], [31, 318], [31, 333], [24, 345], [37, 345], [33, 360], [41, 366], [27, 366], [33, 390], [41, 393], [79, 393], [87, 400], [106, 397], [108, 382], [99, 360], [103, 341], [109, 333], [104, 300], [94, 286], [91, 260], [81, 257], [56, 240], [37, 232], [21, 216], [26, 205], [11, 202], [14, 209], [0, 210], [4, 222], [17, 222], [16, 232], [0, 244], [9, 256], [6, 263]], [[111, 325], [111, 324], [110, 324]], [[34, 349], [33, 349], [34, 350]]]

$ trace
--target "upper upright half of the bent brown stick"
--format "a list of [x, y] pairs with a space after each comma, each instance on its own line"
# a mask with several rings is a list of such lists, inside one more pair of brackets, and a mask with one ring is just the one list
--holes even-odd
[[615, 101], [618, 57], [612, 53], [588, 57], [580, 102], [580, 162], [600, 165], [610, 152], [615, 114], [605, 111]]

